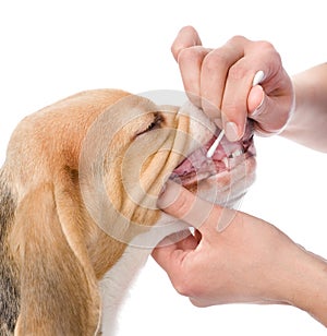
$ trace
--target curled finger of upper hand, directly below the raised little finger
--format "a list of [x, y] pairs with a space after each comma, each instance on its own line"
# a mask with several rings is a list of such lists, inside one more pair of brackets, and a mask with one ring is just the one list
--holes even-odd
[[184, 89], [190, 100], [197, 107], [202, 107], [199, 98], [202, 62], [208, 52], [208, 49], [194, 46], [182, 49], [178, 57]]

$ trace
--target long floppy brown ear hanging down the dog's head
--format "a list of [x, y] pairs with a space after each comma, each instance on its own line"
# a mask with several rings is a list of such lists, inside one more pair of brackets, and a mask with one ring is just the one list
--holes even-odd
[[11, 238], [21, 269], [15, 335], [94, 335], [97, 331], [97, 281], [86, 249], [81, 248], [78, 215], [71, 201], [69, 192], [49, 183], [27, 193], [17, 206]]

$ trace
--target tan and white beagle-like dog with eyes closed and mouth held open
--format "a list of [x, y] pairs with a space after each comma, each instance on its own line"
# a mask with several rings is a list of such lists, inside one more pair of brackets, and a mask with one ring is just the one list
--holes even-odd
[[225, 206], [252, 184], [252, 127], [207, 158], [217, 134], [191, 104], [119, 89], [23, 119], [0, 170], [0, 335], [111, 335], [133, 275], [183, 226], [156, 207], [166, 181]]

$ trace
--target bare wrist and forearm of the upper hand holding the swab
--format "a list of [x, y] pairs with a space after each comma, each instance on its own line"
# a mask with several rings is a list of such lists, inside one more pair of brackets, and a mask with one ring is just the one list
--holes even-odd
[[327, 153], [327, 63], [293, 76], [294, 113], [282, 136]]

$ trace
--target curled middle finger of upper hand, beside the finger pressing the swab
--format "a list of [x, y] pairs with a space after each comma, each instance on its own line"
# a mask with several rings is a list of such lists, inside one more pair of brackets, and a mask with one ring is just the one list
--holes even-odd
[[221, 118], [221, 103], [230, 67], [243, 57], [243, 48], [228, 45], [206, 55], [201, 69], [202, 108], [210, 119]]

